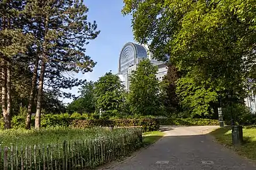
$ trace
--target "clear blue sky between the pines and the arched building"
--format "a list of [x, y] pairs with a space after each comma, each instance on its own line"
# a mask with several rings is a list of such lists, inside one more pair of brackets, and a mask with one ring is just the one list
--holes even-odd
[[[106, 72], [118, 71], [118, 57], [121, 49], [127, 42], [134, 42], [131, 28], [131, 16], [123, 16], [122, 0], [85, 0], [88, 7], [88, 21], [96, 21], [101, 33], [95, 40], [86, 46], [86, 55], [90, 56], [97, 64], [92, 72], [77, 74], [79, 79], [97, 81]], [[66, 90], [78, 96], [78, 87]], [[70, 103], [72, 99], [63, 99]]]

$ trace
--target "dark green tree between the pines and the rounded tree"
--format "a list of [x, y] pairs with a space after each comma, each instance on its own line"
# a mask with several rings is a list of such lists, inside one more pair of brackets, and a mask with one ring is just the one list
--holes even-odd
[[94, 97], [94, 82], [85, 82], [80, 89], [80, 96], [68, 106], [70, 113], [94, 113], [95, 112], [95, 97]]

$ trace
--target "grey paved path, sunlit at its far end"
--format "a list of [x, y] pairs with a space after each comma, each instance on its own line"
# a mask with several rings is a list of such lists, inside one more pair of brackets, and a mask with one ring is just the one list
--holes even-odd
[[252, 162], [203, 134], [212, 128], [216, 127], [165, 127], [162, 139], [110, 169], [256, 169]]

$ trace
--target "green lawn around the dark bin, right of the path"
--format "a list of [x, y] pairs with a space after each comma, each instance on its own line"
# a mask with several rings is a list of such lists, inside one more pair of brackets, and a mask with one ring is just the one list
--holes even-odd
[[256, 160], [256, 127], [244, 127], [244, 144], [236, 147], [232, 145], [231, 128], [218, 128], [210, 132], [210, 134], [213, 135], [218, 142], [235, 150], [235, 152], [241, 156]]

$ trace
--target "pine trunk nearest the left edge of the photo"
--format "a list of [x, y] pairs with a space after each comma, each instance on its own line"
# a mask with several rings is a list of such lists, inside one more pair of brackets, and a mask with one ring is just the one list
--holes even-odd
[[8, 113], [8, 109], [6, 107], [7, 102], [7, 71], [6, 71], [6, 62], [2, 60], [2, 110], [3, 110], [3, 117], [4, 117], [4, 129], [11, 128], [11, 117]]

